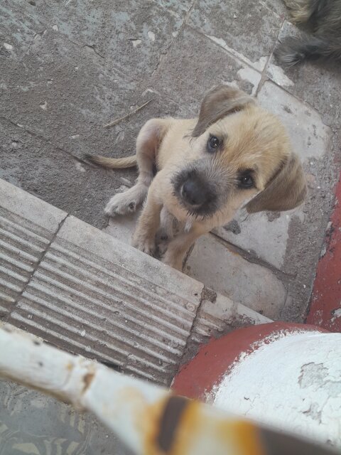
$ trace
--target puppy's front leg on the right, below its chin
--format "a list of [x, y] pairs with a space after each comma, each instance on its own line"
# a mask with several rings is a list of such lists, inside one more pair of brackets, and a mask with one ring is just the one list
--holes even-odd
[[195, 225], [190, 232], [183, 232], [175, 237], [168, 245], [162, 262], [174, 269], [182, 270], [185, 255], [200, 235], [210, 232], [210, 229]]

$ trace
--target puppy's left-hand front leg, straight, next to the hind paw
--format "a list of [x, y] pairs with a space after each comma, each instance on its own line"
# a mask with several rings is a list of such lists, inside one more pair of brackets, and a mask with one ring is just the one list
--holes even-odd
[[131, 244], [133, 247], [145, 252], [147, 255], [155, 255], [156, 232], [160, 226], [161, 200], [156, 196], [156, 185], [153, 181], [148, 191], [146, 204], [142, 210], [136, 225]]

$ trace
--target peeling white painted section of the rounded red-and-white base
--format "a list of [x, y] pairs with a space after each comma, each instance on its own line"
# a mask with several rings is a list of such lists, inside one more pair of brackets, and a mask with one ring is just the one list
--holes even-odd
[[212, 392], [214, 403], [341, 447], [340, 359], [341, 333], [276, 333], [240, 355]]

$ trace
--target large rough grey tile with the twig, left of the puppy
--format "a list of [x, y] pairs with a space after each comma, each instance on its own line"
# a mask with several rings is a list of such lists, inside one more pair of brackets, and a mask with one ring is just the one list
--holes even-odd
[[[139, 129], [151, 117], [185, 117], [185, 108], [163, 100], [95, 53], [53, 31], [1, 71], [0, 114], [70, 154], [134, 154]], [[114, 127], [104, 124], [153, 101]]]

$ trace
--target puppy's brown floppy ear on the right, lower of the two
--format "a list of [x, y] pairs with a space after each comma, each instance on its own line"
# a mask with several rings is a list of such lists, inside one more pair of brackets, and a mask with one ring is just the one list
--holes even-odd
[[291, 154], [266, 188], [251, 199], [245, 208], [249, 213], [291, 210], [303, 203], [306, 193], [301, 161], [296, 154]]

